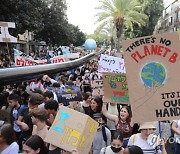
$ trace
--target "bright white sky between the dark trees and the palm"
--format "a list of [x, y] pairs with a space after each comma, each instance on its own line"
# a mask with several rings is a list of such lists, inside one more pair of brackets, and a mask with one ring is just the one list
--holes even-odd
[[97, 13], [95, 7], [99, 6], [98, 0], [66, 0], [68, 21], [79, 26], [87, 34], [93, 34], [97, 25], [94, 17]]

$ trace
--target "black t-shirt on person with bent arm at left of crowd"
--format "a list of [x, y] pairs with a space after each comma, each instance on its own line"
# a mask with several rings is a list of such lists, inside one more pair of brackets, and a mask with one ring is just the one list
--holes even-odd
[[29, 115], [29, 108], [25, 108], [21, 116], [23, 116], [23, 122], [28, 125], [29, 129], [27, 131], [22, 131], [22, 136], [24, 138], [29, 138], [32, 135], [32, 130], [33, 130], [33, 123], [31, 116]]

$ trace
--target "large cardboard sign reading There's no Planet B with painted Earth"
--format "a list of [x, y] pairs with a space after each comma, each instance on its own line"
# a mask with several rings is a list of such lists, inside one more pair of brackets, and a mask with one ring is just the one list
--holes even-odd
[[123, 41], [123, 55], [133, 122], [179, 119], [179, 34]]

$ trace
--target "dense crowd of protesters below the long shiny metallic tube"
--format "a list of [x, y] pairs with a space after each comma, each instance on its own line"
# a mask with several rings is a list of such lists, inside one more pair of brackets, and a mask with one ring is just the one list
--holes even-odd
[[[70, 153], [44, 141], [56, 114], [64, 105], [89, 115], [99, 123], [91, 154], [166, 154], [164, 140], [157, 146], [148, 143], [157, 123], [136, 124], [131, 121], [128, 105], [107, 104], [103, 96], [92, 96], [91, 83], [102, 79], [98, 58], [83, 66], [55, 75], [44, 75], [22, 83], [0, 88], [0, 153], [61, 154]], [[65, 101], [59, 96], [67, 85], [81, 89], [82, 101]], [[174, 154], [180, 154], [180, 120], [161, 122], [162, 137], [177, 139]], [[71, 153], [78, 153], [75, 149]]]

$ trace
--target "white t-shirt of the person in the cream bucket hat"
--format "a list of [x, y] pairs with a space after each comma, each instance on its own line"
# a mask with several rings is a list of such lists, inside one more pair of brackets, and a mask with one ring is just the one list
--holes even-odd
[[144, 154], [156, 154], [161, 153], [161, 151], [156, 152], [153, 146], [149, 145], [147, 140], [141, 138], [140, 133], [132, 135], [129, 139], [128, 146], [136, 145], [139, 146]]

